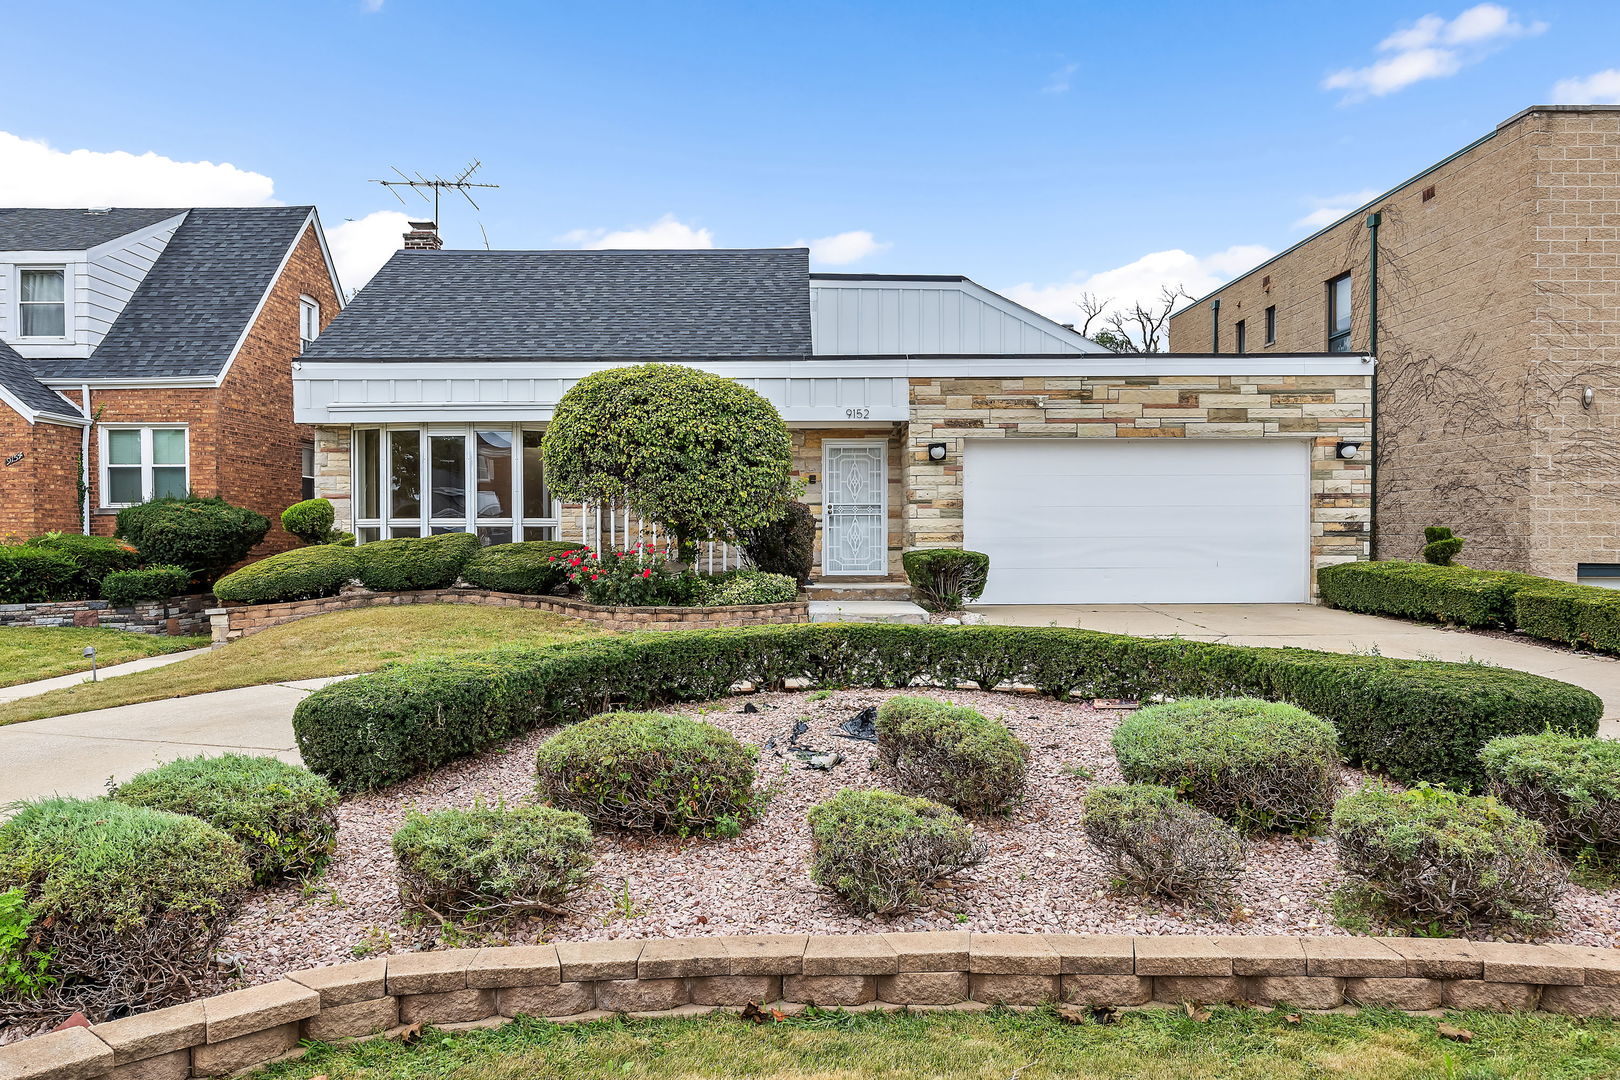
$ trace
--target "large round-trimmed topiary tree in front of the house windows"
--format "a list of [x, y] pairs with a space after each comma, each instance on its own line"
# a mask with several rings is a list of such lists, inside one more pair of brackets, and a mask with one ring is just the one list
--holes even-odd
[[682, 560], [700, 539], [776, 521], [794, 494], [792, 440], [776, 408], [680, 364], [580, 379], [557, 402], [541, 453], [554, 495], [624, 500], [674, 534]]

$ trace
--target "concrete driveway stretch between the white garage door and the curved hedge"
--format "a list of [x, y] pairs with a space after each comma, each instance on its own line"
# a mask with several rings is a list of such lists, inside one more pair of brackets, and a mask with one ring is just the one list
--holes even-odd
[[1315, 604], [1064, 604], [975, 607], [1008, 627], [1084, 627], [1142, 638], [1379, 653], [1413, 661], [1481, 661], [1586, 687], [1604, 699], [1602, 735], [1620, 737], [1620, 659], [1356, 615]]

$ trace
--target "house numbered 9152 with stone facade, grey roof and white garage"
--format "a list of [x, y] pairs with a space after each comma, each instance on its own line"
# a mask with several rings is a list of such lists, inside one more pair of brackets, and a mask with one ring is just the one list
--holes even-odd
[[1364, 555], [1361, 356], [1116, 356], [956, 275], [810, 274], [804, 249], [437, 251], [408, 235], [293, 372], [321, 495], [361, 542], [614, 544], [541, 434], [591, 371], [676, 361], [771, 400], [823, 583], [909, 547], [993, 562], [987, 602], [1306, 601]]

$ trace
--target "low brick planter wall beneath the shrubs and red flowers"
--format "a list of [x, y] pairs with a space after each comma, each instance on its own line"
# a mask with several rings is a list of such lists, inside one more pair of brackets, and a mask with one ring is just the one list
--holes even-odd
[[324, 615], [356, 607], [387, 607], [392, 604], [480, 604], [486, 607], [530, 607], [585, 619], [608, 630], [697, 630], [705, 627], [763, 627], [768, 623], [810, 622], [810, 604], [732, 604], [726, 607], [601, 607], [567, 596], [528, 596], [523, 593], [496, 593], [492, 589], [413, 589], [402, 593], [371, 593], [353, 589], [340, 596], [322, 596], [313, 601], [285, 604], [241, 604], [215, 607], [212, 617], [214, 643], [235, 641], [248, 635], [296, 622], [311, 615]]

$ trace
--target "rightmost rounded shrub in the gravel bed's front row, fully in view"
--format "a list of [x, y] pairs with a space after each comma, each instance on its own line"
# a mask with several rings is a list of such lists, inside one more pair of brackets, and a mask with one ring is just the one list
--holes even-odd
[[1563, 894], [1545, 829], [1490, 797], [1369, 782], [1333, 806], [1338, 861], [1359, 904], [1429, 928], [1534, 928]]

